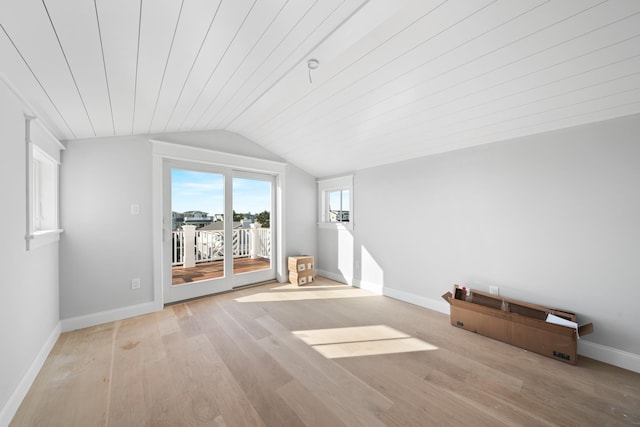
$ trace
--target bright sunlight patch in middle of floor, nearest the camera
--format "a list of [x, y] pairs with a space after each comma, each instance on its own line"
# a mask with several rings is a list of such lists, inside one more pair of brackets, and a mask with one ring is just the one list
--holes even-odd
[[293, 334], [328, 359], [438, 349], [386, 325], [293, 331]]

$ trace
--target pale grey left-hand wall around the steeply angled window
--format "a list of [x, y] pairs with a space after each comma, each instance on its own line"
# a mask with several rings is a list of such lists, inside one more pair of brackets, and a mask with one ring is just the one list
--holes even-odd
[[58, 244], [26, 251], [27, 109], [0, 79], [0, 426], [7, 425], [60, 333]]

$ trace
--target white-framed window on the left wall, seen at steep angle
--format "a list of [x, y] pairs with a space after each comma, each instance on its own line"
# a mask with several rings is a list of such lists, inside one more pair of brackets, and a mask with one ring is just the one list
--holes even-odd
[[[25, 115], [26, 158], [26, 249], [33, 250], [60, 240], [60, 161], [56, 159], [64, 146], [41, 124], [37, 133], [35, 117]], [[32, 140], [32, 135], [36, 135]], [[43, 176], [46, 175], [46, 176]], [[42, 185], [42, 180], [46, 180]], [[46, 192], [46, 194], [43, 194]], [[46, 215], [42, 223], [39, 218]]]

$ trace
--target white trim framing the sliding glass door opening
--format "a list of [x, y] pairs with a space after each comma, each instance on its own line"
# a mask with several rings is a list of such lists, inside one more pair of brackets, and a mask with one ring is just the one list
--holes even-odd
[[[152, 227], [153, 227], [153, 302], [157, 310], [164, 307], [163, 269], [162, 269], [162, 243], [171, 232], [171, 218], [163, 218], [163, 163], [165, 159], [181, 160], [190, 163], [201, 163], [217, 167], [240, 169], [247, 172], [256, 172], [275, 176], [275, 209], [276, 216], [276, 280], [283, 282], [286, 279], [286, 266], [284, 254], [285, 245], [285, 195], [286, 195], [286, 168], [287, 164], [274, 160], [265, 160], [255, 157], [225, 153], [222, 151], [208, 150], [199, 147], [191, 147], [170, 142], [151, 139], [152, 147]], [[272, 236], [273, 238], [273, 236]]]

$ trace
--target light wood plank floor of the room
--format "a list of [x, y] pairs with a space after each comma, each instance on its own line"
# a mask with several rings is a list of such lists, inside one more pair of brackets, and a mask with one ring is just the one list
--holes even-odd
[[639, 423], [640, 374], [318, 278], [64, 333], [12, 426]]

